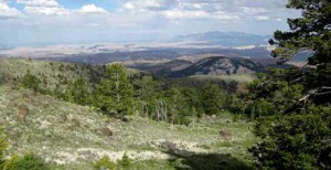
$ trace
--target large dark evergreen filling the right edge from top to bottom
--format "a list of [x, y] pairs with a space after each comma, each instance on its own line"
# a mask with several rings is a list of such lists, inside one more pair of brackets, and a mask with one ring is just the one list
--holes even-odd
[[331, 2], [289, 0], [287, 7], [302, 17], [288, 20], [290, 31], [275, 32], [271, 54], [279, 63], [301, 51], [311, 56], [306, 68], [276, 71], [250, 85], [248, 102], [274, 104], [275, 111], [258, 119], [261, 142], [249, 151], [264, 169], [331, 169]]

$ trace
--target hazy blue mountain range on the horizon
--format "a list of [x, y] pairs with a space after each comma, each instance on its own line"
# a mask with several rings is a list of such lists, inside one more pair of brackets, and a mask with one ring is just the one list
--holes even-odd
[[193, 45], [222, 45], [225, 47], [261, 45], [267, 44], [271, 35], [254, 35], [243, 32], [220, 32], [212, 31], [205, 33], [196, 33], [181, 35], [172, 41], [192, 41]]

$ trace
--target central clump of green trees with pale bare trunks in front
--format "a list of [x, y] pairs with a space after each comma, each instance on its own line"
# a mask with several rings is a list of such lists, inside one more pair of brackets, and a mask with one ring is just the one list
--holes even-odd
[[[130, 79], [135, 87], [134, 107], [141, 116], [158, 121], [189, 125], [204, 113], [203, 93], [200, 93], [197, 87], [180, 84], [179, 79], [169, 82], [169, 79], [156, 78], [146, 73], [132, 75]], [[194, 83], [191, 82], [192, 84]], [[216, 96], [211, 100], [218, 98], [221, 97]]]

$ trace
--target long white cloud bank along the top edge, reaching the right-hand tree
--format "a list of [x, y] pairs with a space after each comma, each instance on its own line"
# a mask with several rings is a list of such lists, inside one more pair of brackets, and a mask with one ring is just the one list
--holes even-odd
[[278, 20], [287, 0], [128, 0], [121, 10], [159, 13], [169, 19]]

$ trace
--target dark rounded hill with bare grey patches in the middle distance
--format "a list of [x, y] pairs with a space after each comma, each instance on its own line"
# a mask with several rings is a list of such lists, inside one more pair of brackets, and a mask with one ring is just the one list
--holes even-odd
[[166, 62], [127, 63], [126, 66], [166, 77], [252, 75], [263, 66], [249, 59], [226, 57], [216, 54], [179, 57]]

